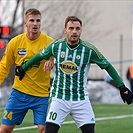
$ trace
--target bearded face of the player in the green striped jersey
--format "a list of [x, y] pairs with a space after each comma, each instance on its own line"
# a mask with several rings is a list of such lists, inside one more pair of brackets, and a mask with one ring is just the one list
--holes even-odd
[[82, 26], [79, 21], [69, 21], [64, 28], [64, 33], [69, 44], [76, 44], [79, 42], [79, 38], [82, 32]]

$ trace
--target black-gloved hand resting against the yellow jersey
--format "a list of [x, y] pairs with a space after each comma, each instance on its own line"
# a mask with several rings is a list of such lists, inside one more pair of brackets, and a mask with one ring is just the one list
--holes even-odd
[[15, 75], [19, 76], [19, 80], [23, 79], [23, 77], [25, 75], [25, 71], [23, 70], [23, 68], [21, 66], [16, 66]]

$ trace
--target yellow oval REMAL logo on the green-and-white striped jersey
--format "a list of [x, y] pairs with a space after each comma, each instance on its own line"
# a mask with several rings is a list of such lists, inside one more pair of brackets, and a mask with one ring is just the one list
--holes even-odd
[[78, 71], [78, 66], [72, 61], [63, 61], [59, 67], [66, 74], [74, 74]]

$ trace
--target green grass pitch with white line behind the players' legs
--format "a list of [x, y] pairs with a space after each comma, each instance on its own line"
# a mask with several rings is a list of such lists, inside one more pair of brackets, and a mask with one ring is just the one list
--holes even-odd
[[[95, 116], [95, 133], [133, 133], [133, 105], [127, 104], [92, 104]], [[2, 113], [2, 108], [0, 110]], [[1, 116], [0, 116], [1, 119]], [[26, 115], [23, 124], [16, 126], [13, 133], [37, 133], [33, 125], [32, 112]], [[70, 116], [59, 133], [81, 133]]]

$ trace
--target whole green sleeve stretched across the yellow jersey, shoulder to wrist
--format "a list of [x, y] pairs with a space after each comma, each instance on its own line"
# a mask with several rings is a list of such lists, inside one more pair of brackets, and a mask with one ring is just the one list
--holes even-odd
[[32, 65], [40, 62], [43, 59], [48, 60], [51, 56], [53, 56], [52, 43], [50, 45], [48, 45], [46, 48], [44, 48], [41, 52], [39, 52], [38, 54], [36, 54], [32, 58], [30, 58], [26, 63], [24, 63], [22, 65], [22, 68], [24, 71], [26, 71]]

